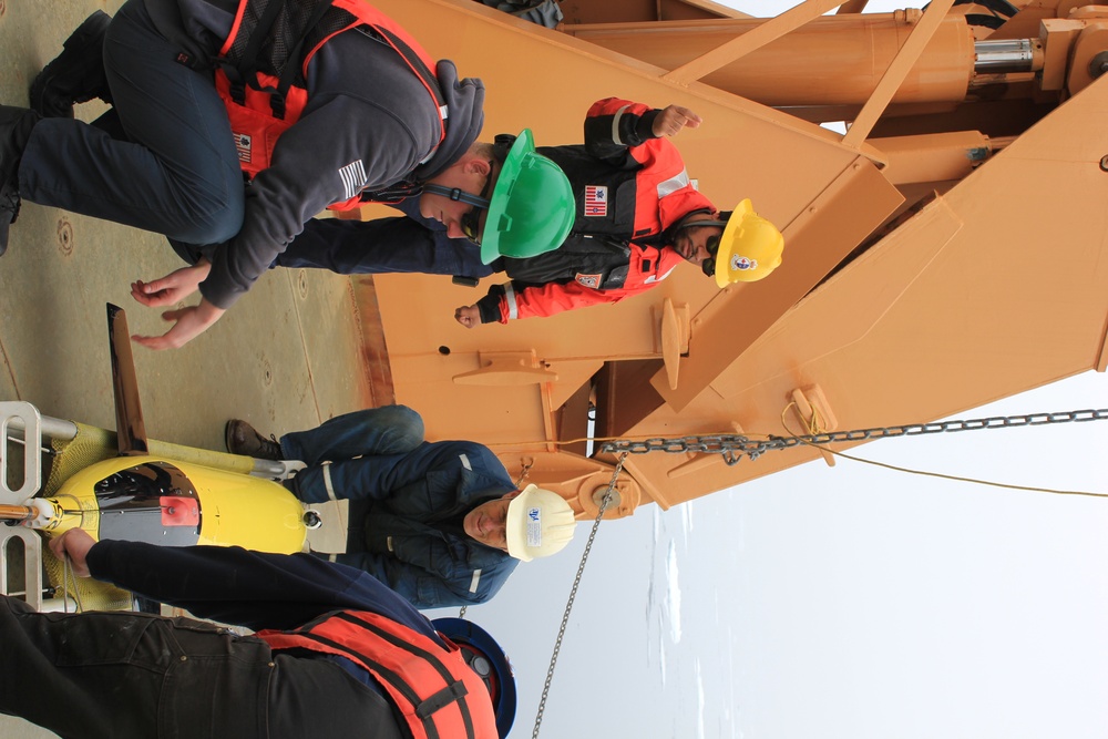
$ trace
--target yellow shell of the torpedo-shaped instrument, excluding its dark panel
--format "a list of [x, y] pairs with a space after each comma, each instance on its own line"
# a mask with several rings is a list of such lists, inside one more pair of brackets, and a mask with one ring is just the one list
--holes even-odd
[[196, 490], [201, 504], [197, 544], [243, 546], [259, 552], [286, 554], [304, 548], [307, 530], [301, 520], [301, 505], [280, 484], [147, 455], [113, 458], [74, 473], [48, 499], [59, 515], [45, 531], [57, 535], [80, 527], [99, 538], [100, 507], [95, 484], [116, 472], [157, 461], [181, 470]]

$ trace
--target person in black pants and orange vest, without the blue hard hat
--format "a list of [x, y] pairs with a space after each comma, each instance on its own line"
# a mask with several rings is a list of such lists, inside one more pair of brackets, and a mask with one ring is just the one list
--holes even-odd
[[[495, 739], [463, 650], [376, 578], [307, 554], [50, 544], [78, 575], [257, 630], [0, 596], [0, 710], [85, 739]], [[512, 707], [514, 712], [514, 706]]]

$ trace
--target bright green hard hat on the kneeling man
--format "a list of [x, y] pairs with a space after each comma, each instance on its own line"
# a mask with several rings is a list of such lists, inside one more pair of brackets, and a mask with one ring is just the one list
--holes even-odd
[[531, 129], [509, 150], [489, 198], [481, 234], [481, 261], [533, 257], [562, 246], [573, 228], [573, 187], [558, 165], [535, 153]]

